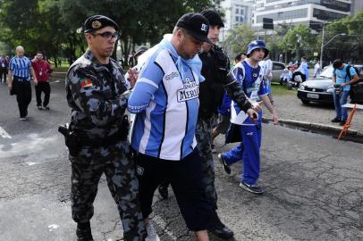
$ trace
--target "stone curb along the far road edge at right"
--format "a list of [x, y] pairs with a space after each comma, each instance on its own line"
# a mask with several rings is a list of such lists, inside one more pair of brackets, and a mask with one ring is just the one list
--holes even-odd
[[[272, 121], [271, 118], [263, 117], [262, 121], [268, 123]], [[337, 138], [342, 131], [342, 127], [335, 127], [331, 125], [325, 125], [320, 123], [312, 123], [300, 120], [279, 120], [279, 125], [292, 129], [301, 129], [303, 131], [309, 131], [317, 134], [323, 134]], [[350, 140], [353, 142], [363, 143], [363, 132], [355, 129], [348, 129], [346, 135], [342, 138], [344, 140]]]

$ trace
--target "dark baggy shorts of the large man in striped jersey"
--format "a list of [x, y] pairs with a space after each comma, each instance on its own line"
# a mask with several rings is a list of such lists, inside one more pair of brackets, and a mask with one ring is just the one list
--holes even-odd
[[136, 163], [139, 201], [144, 218], [152, 212], [151, 205], [156, 188], [168, 179], [188, 229], [192, 231], [215, 229], [214, 209], [205, 194], [201, 161], [197, 150], [182, 161], [167, 161], [138, 154]]

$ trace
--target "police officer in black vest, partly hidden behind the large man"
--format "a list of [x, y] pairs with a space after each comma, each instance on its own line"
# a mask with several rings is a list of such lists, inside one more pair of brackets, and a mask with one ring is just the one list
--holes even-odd
[[[224, 89], [227, 91], [228, 95], [232, 97], [232, 100], [240, 106], [249, 106], [248, 108], [253, 106], [255, 110], [258, 110], [260, 106], [257, 103], [250, 104], [246, 100], [245, 94], [232, 74], [226, 75], [226, 72], [230, 71], [228, 55], [225, 54], [221, 47], [215, 45], [216, 41], [218, 41], [219, 30], [224, 27], [222, 18], [213, 9], [207, 9], [200, 13], [205, 16], [210, 23], [208, 37], [212, 40], [214, 45], [205, 43], [202, 46], [202, 53], [199, 54], [199, 58], [203, 62], [201, 73], [206, 78], [206, 81], [200, 84], [196, 137], [198, 141], [197, 148], [202, 158], [202, 168], [204, 172], [203, 181], [207, 186], [207, 196], [214, 203], [216, 211], [217, 195], [215, 191], [215, 166], [212, 156], [212, 131], [213, 123], [217, 116], [217, 109], [223, 101]], [[218, 223], [217, 228], [210, 231], [218, 237], [232, 237], [232, 230], [224, 225], [218, 218], [216, 212], [215, 219]]]

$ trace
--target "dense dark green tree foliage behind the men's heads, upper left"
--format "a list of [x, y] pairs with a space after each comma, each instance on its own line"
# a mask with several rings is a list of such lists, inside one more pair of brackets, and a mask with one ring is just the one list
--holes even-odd
[[182, 14], [213, 5], [211, 0], [0, 0], [0, 41], [31, 54], [40, 48], [55, 61], [72, 60], [86, 47], [77, 29], [90, 15], [104, 14], [121, 26], [127, 56], [135, 45], [156, 44]]

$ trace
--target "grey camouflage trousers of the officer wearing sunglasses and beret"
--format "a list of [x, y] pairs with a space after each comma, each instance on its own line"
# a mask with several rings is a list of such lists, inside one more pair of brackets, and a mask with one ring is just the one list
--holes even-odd
[[139, 206], [139, 182], [131, 157], [129, 142], [101, 148], [82, 147], [72, 162], [72, 219], [89, 221], [94, 212], [97, 186], [105, 173], [107, 185], [122, 220], [124, 240], [139, 241], [145, 237]]

